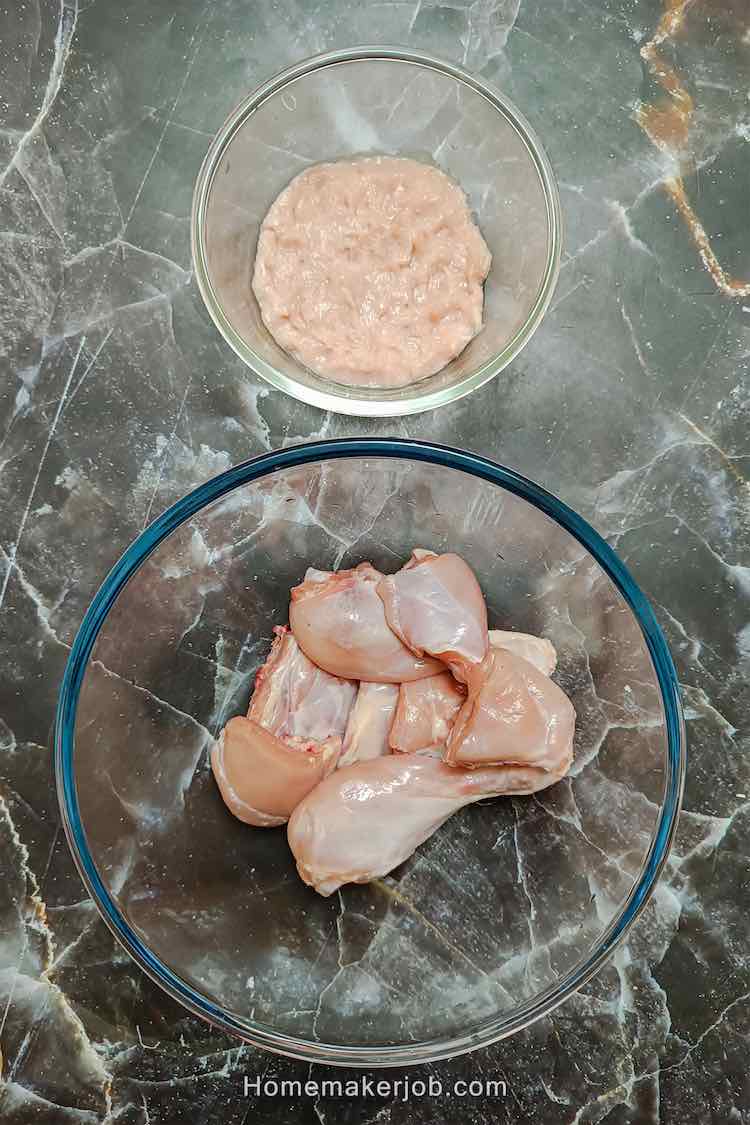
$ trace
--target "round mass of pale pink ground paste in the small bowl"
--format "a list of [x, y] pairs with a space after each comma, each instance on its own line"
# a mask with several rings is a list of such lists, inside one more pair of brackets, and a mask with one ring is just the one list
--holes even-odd
[[326, 379], [403, 386], [481, 327], [490, 253], [440, 169], [365, 156], [305, 169], [261, 225], [253, 292], [278, 344]]

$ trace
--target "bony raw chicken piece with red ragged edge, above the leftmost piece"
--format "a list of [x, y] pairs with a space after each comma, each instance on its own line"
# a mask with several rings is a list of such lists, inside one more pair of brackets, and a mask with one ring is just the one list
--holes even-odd
[[318, 668], [286, 626], [277, 626], [271, 655], [255, 676], [249, 719], [278, 738], [317, 742], [343, 735], [356, 684]]

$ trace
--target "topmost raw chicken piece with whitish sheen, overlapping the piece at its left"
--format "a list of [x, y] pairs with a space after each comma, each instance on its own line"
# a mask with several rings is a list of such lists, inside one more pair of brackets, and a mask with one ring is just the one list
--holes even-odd
[[428, 652], [467, 683], [487, 656], [487, 606], [473, 572], [458, 555], [415, 550], [378, 593], [388, 624], [413, 652]]

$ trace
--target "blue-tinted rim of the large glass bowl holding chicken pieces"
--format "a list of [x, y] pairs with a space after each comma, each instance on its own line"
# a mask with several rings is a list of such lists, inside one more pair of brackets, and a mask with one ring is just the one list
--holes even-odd
[[[256, 1025], [225, 1011], [183, 981], [142, 942], [120, 914], [105, 885], [88, 847], [73, 766], [78, 700], [93, 645], [120, 591], [156, 547], [197, 512], [240, 486], [280, 469], [355, 457], [426, 462], [467, 472], [522, 497], [572, 534], [615, 584], [639, 623], [659, 682], [667, 732], [665, 791], [651, 844], [641, 873], [627, 899], [607, 926], [596, 947], [589, 951], [562, 980], [532, 997], [510, 1014], [490, 1017], [460, 1035], [396, 1046], [345, 1046], [277, 1032], [269, 1025]], [[665, 865], [677, 827], [685, 784], [686, 741], [677, 673], [653, 610], [625, 564], [582, 516], [534, 482], [476, 453], [408, 439], [345, 438], [295, 446], [243, 461], [188, 493], [157, 516], [130, 543], [93, 597], [73, 641], [57, 703], [54, 756], [62, 820], [79, 873], [114, 936], [156, 984], [189, 1011], [254, 1046], [306, 1062], [379, 1068], [450, 1059], [506, 1038], [549, 1015], [590, 980], [645, 907]]]

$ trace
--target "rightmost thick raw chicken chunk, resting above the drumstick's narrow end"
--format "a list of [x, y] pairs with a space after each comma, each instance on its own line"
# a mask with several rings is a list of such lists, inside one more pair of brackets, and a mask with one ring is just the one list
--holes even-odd
[[576, 712], [554, 681], [513, 652], [491, 648], [448, 739], [450, 765], [536, 766], [562, 775], [572, 762]]

